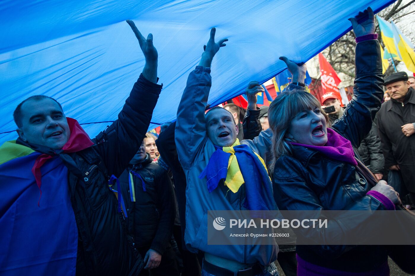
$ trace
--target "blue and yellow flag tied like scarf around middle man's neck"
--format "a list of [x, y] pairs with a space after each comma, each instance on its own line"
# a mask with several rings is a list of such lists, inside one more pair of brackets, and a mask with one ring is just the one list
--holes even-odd
[[[216, 146], [215, 146], [216, 147]], [[233, 193], [245, 183], [248, 210], [276, 210], [272, 184], [264, 160], [236, 139], [230, 147], [216, 147], [199, 178], [206, 177], [209, 193], [223, 180]]]

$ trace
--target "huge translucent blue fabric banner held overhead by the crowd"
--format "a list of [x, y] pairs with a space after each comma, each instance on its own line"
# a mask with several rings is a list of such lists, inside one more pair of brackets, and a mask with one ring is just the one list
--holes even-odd
[[154, 36], [164, 89], [152, 122], [163, 124], [175, 120], [211, 27], [217, 39], [229, 39], [212, 64], [209, 103], [216, 105], [283, 71], [279, 56], [305, 62], [351, 29], [347, 18], [391, 2], [2, 0], [0, 144], [16, 138], [13, 110], [32, 95], [56, 98], [81, 124], [103, 122], [83, 125], [90, 136], [115, 120], [144, 66], [127, 19]]

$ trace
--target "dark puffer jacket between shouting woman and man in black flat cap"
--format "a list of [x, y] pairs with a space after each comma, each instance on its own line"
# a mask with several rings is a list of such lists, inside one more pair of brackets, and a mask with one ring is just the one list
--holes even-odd
[[358, 149], [361, 160], [372, 173], [383, 173], [385, 159], [381, 149], [381, 139], [378, 136], [376, 121], [373, 122], [369, 134], [364, 137]]

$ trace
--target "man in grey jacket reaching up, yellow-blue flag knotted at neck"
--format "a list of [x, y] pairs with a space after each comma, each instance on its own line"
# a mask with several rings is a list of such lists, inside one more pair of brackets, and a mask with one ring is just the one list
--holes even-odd
[[[237, 141], [236, 126], [227, 110], [214, 107], [205, 116], [211, 86], [210, 65], [216, 52], [225, 46], [225, 41], [227, 39], [215, 43], [215, 28], [211, 30], [200, 64], [188, 77], [177, 112], [175, 140], [187, 180], [185, 242], [191, 252], [205, 252], [203, 271], [207, 275], [215, 275], [218, 271], [232, 275], [240, 275], [240, 271], [250, 271], [250, 275], [272, 275], [270, 273], [276, 273], [273, 265], [278, 253], [276, 244], [207, 244], [207, 211], [241, 210], [244, 200], [244, 188], [236, 193], [227, 193], [228, 189], [221, 184], [210, 193], [206, 187], [207, 179], [199, 178], [217, 147], [230, 147]], [[256, 90], [259, 92], [259, 87], [259, 84], [254, 85], [247, 91], [250, 110], [256, 110]], [[248, 144], [250, 149], [258, 152], [254, 142], [246, 141], [241, 144]], [[272, 186], [262, 188], [269, 190]]]

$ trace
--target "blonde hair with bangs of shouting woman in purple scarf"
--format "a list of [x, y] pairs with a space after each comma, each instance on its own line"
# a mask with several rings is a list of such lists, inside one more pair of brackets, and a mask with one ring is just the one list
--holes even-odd
[[294, 141], [287, 137], [290, 132], [291, 120], [298, 113], [304, 110], [314, 110], [316, 107], [320, 109], [328, 122], [328, 116], [322, 110], [317, 98], [303, 90], [294, 89], [283, 92], [269, 105], [268, 122], [273, 133], [271, 169], [274, 168], [275, 162], [280, 156], [292, 154], [290, 142]]

